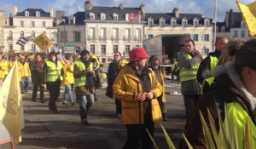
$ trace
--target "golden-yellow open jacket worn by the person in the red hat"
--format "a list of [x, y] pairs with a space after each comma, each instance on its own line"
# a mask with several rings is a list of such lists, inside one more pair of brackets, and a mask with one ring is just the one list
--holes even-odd
[[[153, 71], [150, 69], [149, 78], [151, 82], [151, 92], [155, 97], [162, 94], [162, 86], [154, 77]], [[143, 92], [143, 86], [140, 79], [135, 76], [129, 66], [125, 66], [119, 72], [113, 83], [113, 95], [122, 100], [122, 122], [124, 124], [142, 124], [144, 123], [143, 101], [137, 100], [138, 93]], [[157, 99], [151, 100], [153, 121], [162, 119], [160, 106]]]

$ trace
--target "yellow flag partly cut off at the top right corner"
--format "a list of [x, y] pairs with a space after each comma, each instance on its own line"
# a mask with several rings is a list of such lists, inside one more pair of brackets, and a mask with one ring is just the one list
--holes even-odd
[[237, 2], [237, 5], [250, 35], [256, 35], [256, 1], [248, 5]]

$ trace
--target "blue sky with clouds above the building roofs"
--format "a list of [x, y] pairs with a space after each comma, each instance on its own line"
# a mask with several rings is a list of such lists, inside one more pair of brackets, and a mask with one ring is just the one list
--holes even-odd
[[[146, 12], [150, 13], [171, 13], [177, 7], [181, 13], [202, 14], [213, 18], [215, 0], [91, 0], [94, 6], [119, 6], [123, 3], [124, 7], [139, 7], [142, 3], [146, 5]], [[249, 4], [254, 0], [240, 0], [240, 3]], [[55, 10], [64, 10], [66, 15], [74, 14], [77, 11], [84, 11], [85, 0], [0, 0], [0, 9], [5, 14], [13, 13], [16, 5], [18, 11], [27, 8], [44, 9], [49, 12], [52, 6]], [[217, 0], [218, 2], [218, 21], [224, 21], [225, 12], [233, 9], [238, 11], [236, 0]]]

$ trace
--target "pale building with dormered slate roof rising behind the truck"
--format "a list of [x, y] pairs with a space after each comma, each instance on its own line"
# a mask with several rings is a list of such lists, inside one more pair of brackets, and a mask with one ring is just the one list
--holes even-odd
[[144, 38], [159, 35], [189, 34], [195, 48], [206, 56], [213, 50], [212, 20], [201, 14], [181, 14], [177, 8], [172, 13], [146, 13]]

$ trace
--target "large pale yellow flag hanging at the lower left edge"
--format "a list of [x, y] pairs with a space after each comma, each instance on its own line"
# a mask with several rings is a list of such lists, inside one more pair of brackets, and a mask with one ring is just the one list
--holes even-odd
[[8, 129], [15, 143], [20, 143], [21, 129], [24, 128], [24, 113], [17, 61], [0, 89], [0, 121]]

